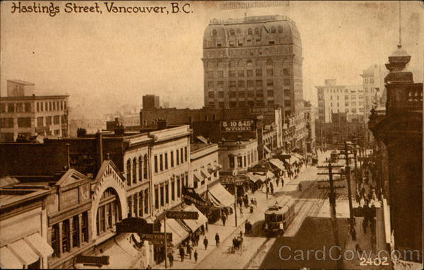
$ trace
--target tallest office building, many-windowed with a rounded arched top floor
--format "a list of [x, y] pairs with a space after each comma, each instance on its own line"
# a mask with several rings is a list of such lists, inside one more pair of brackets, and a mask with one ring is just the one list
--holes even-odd
[[285, 16], [213, 19], [204, 32], [204, 102], [215, 108], [283, 107], [305, 136], [302, 42]]

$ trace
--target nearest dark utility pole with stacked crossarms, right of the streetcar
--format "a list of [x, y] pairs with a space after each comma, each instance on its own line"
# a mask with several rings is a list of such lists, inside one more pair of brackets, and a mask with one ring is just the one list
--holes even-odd
[[[328, 168], [329, 172], [318, 172], [317, 175], [329, 175], [329, 184], [330, 187], [318, 187], [319, 189], [330, 189], [329, 193], [329, 202], [331, 207], [331, 227], [333, 228], [333, 236], [334, 236], [334, 245], [336, 247], [340, 247], [340, 243], [338, 241], [338, 225], [337, 225], [337, 218], [336, 218], [336, 192], [334, 189], [341, 189], [344, 188], [343, 186], [334, 187], [334, 181], [340, 181], [340, 180], [333, 180], [333, 175], [336, 174], [336, 172], [333, 172], [333, 168], [341, 168], [343, 166], [336, 165], [333, 166], [331, 163], [329, 163], [328, 166], [317, 166], [317, 168]], [[340, 173], [338, 173], [340, 174]], [[326, 181], [323, 181], [326, 182]], [[336, 249], [338, 250], [338, 249]], [[338, 253], [340, 250], [338, 250]], [[336, 257], [339, 258], [339, 254], [336, 254]], [[337, 260], [337, 269], [340, 269], [341, 267], [341, 261], [340, 259]]]

